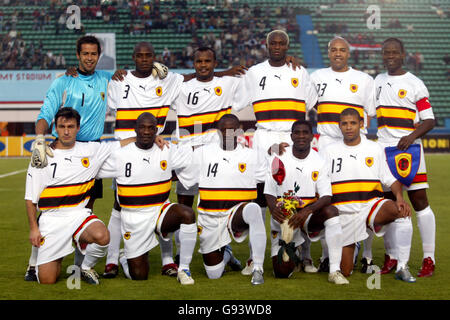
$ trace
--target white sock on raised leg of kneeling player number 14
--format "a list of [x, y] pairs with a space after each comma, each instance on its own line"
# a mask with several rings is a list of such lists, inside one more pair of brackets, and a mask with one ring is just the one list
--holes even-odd
[[249, 241], [252, 245], [254, 268], [262, 269], [267, 235], [264, 221], [259, 213], [259, 206], [256, 203], [249, 203], [242, 210], [242, 218], [249, 225]]

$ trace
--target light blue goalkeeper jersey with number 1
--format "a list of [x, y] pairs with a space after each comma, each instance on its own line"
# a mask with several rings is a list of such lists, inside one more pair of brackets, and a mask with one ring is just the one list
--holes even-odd
[[[106, 117], [106, 97], [111, 73], [95, 71], [92, 75], [78, 77], [62, 76], [56, 79], [47, 91], [44, 104], [38, 115], [50, 127], [59, 108], [72, 107], [81, 116], [78, 141], [95, 141], [103, 134]], [[53, 127], [52, 134], [57, 137]]]

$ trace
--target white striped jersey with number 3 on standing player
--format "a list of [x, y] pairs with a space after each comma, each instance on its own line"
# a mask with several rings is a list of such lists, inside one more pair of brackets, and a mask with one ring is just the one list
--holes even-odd
[[166, 117], [173, 100], [177, 97], [184, 77], [169, 72], [163, 80], [149, 76], [138, 78], [127, 72], [123, 81], [108, 84], [108, 107], [116, 111], [116, 139], [136, 136], [136, 119], [144, 112], [156, 117], [158, 134], [164, 130]]

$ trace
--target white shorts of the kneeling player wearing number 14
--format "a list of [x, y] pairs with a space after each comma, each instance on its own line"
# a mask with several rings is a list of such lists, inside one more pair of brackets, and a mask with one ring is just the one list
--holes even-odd
[[226, 246], [231, 242], [232, 238], [238, 243], [247, 238], [248, 229], [239, 234], [233, 233], [231, 229], [234, 214], [242, 204], [238, 203], [233, 208], [228, 209], [224, 215], [213, 216], [199, 213], [197, 229], [200, 249], [198, 252], [207, 254]]

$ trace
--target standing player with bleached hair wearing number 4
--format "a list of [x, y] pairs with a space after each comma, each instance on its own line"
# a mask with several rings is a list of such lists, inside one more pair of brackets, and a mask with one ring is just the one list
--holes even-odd
[[[304, 120], [317, 101], [317, 92], [305, 68], [290, 68], [286, 62], [289, 36], [274, 30], [266, 40], [269, 59], [252, 66], [244, 76], [246, 102], [251, 104], [256, 117], [253, 148], [261, 157], [268, 157], [273, 144], [290, 143], [292, 124]], [[264, 183], [258, 185], [257, 203], [265, 219], [266, 200]], [[243, 274], [251, 274], [250, 256]]]

